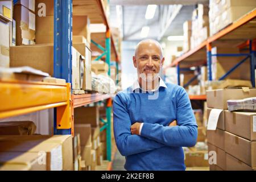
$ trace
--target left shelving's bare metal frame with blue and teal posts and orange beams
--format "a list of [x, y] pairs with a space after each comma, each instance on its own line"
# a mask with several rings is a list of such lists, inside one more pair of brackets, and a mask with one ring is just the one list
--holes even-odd
[[[54, 0], [54, 76], [57, 78], [64, 78], [67, 82], [72, 84], [72, 0]], [[95, 0], [94, 0], [95, 1]], [[106, 63], [109, 65], [108, 75], [110, 76], [110, 56], [111, 56], [111, 44], [113, 44], [113, 39], [111, 39], [110, 27], [108, 23], [108, 18], [106, 18], [105, 10], [102, 5], [102, 1], [97, 0], [97, 9], [99, 13], [102, 13], [102, 18], [104, 24], [106, 24], [106, 38], [105, 38], [105, 48], [100, 46], [92, 40], [93, 44], [104, 51], [101, 56], [97, 57], [99, 60], [102, 56], [106, 56]], [[114, 47], [115, 57], [117, 60], [117, 71], [118, 71], [118, 55]], [[103, 94], [101, 96], [94, 97], [93, 94], [82, 94], [73, 95], [70, 99], [69, 108], [69, 118], [71, 121], [71, 127], [68, 129], [60, 129], [59, 123], [57, 122], [61, 115], [63, 115], [62, 110], [55, 109], [55, 134], [74, 134], [74, 109], [75, 107], [87, 105], [93, 102], [98, 102], [106, 100], [106, 123], [101, 131], [106, 129], [106, 142], [107, 142], [107, 159], [111, 161], [111, 110], [112, 110], [112, 98], [108, 94]]]

